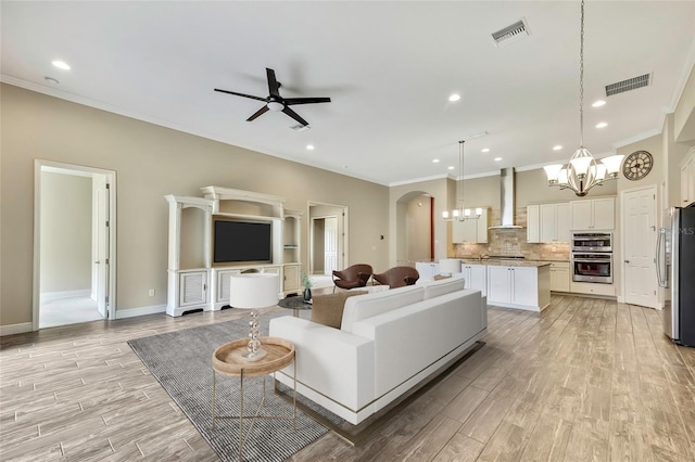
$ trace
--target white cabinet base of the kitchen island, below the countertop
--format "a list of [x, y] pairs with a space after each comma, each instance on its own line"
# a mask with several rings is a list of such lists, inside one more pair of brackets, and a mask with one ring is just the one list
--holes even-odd
[[551, 303], [551, 266], [488, 266], [488, 304], [541, 311]]

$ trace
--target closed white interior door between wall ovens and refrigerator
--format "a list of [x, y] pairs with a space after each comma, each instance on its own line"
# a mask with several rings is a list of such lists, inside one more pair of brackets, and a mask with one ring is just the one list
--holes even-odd
[[657, 308], [656, 190], [624, 192], [623, 204], [623, 286], [624, 301]]

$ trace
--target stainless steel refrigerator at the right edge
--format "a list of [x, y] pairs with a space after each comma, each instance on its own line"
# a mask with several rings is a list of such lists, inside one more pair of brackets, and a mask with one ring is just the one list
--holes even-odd
[[695, 346], [695, 203], [669, 208], [664, 224], [656, 248], [659, 285], [670, 290], [664, 332], [677, 344]]

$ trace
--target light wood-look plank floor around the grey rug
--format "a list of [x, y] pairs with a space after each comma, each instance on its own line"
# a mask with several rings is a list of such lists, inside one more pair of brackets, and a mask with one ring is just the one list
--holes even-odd
[[[217, 460], [126, 339], [243, 316], [2, 337], [0, 460]], [[659, 311], [553, 296], [540, 315], [491, 307], [485, 342], [362, 446], [329, 433], [292, 460], [695, 460], [695, 349]]]

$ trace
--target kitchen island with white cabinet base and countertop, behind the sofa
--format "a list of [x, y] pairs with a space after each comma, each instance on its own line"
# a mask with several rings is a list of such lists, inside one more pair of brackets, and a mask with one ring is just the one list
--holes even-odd
[[[479, 278], [484, 268], [483, 291], [488, 305], [541, 311], [551, 304], [551, 262], [525, 259], [462, 259], [466, 286], [480, 288]], [[471, 284], [468, 284], [468, 281]]]

